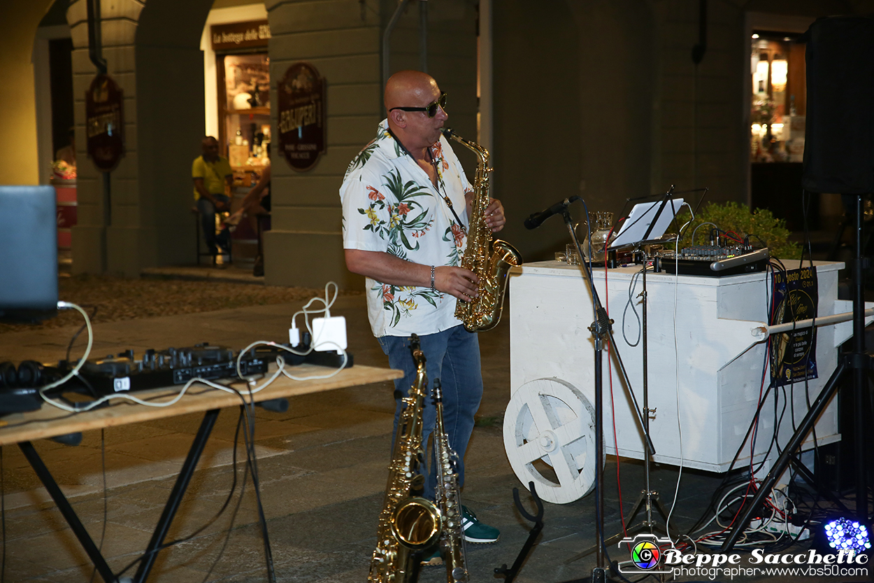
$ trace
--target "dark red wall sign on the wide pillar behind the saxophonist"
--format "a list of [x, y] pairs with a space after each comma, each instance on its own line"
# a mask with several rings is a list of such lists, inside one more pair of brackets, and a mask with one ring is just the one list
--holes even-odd
[[325, 151], [325, 81], [316, 67], [295, 63], [276, 89], [279, 153], [296, 171], [309, 170]]

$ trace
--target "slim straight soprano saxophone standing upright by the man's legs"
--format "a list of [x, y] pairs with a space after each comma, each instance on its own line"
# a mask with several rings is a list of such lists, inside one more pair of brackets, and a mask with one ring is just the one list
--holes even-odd
[[443, 393], [440, 379], [434, 379], [434, 457], [437, 463], [437, 508], [440, 509], [440, 551], [446, 565], [447, 583], [467, 583], [464, 557], [464, 530], [461, 528], [461, 489], [458, 487], [458, 454], [449, 446], [443, 427]]

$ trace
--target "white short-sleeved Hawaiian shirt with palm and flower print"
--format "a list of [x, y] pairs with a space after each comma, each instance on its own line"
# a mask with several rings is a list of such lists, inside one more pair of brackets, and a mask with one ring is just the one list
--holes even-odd
[[[423, 265], [460, 265], [469, 222], [464, 193], [470, 183], [458, 158], [445, 137], [431, 146], [438, 192], [387, 127], [385, 120], [379, 124], [377, 137], [352, 160], [340, 187], [343, 248], [382, 251]], [[461, 323], [449, 294], [370, 277], [366, 286], [376, 336], [435, 334]]]

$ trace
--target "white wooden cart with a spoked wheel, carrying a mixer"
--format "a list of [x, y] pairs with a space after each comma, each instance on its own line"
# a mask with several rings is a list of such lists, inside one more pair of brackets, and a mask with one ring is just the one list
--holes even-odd
[[[837, 272], [843, 263], [814, 264], [818, 315], [850, 312], [851, 302], [837, 299]], [[631, 346], [640, 324], [631, 308], [626, 309], [629, 284], [639, 270], [639, 266], [608, 270], [605, 277], [601, 268], [594, 270], [593, 279], [615, 322], [616, 348], [642, 404], [642, 348], [640, 343]], [[637, 297], [641, 291], [638, 281], [632, 294], [637, 313], [641, 312], [642, 299]], [[765, 273], [677, 277], [649, 272], [647, 291], [649, 408], [655, 409], [649, 421], [656, 452], [653, 460], [725, 472], [753, 420], [763, 387], [766, 342], [757, 339], [755, 330], [767, 320], [769, 277]], [[511, 271], [511, 397], [504, 418], [504, 446], [519, 480], [524, 484], [535, 481], [538, 494], [549, 502], [572, 502], [594, 486], [594, 343], [588, 330], [593, 320], [592, 297], [579, 266], [547, 261]], [[852, 323], [817, 330], [819, 376], [807, 389], [798, 383], [787, 390], [794, 407], [787, 407], [780, 425], [780, 444], [793, 432], [791, 410], [800, 420], [808, 402], [836, 369], [837, 348], [852, 335]], [[642, 430], [628, 389], [611, 360], [605, 355], [605, 453], [642, 460]], [[608, 367], [612, 367], [609, 374]], [[767, 371], [764, 387], [769, 375]], [[766, 455], [773, 434], [772, 411], [760, 416], [753, 449], [757, 462]], [[815, 428], [820, 445], [841, 439], [836, 401], [829, 404]], [[812, 446], [808, 436], [803, 448]], [[749, 459], [747, 443], [739, 464]]]

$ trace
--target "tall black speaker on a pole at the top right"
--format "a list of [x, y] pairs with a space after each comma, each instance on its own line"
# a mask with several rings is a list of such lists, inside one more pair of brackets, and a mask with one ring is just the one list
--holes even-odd
[[819, 18], [806, 39], [801, 186], [811, 193], [874, 193], [874, 18]]

